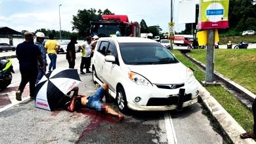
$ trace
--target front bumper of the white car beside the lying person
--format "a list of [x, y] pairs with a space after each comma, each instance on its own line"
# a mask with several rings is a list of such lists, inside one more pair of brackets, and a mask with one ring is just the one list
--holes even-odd
[[[153, 86], [141, 86], [138, 84], [125, 85], [125, 94], [127, 97], [127, 106], [136, 111], [166, 111], [177, 108], [180, 88], [185, 90], [183, 107], [196, 103], [199, 91], [196, 79], [184, 86], [175, 89], [159, 88], [156, 84]], [[136, 102], [135, 98], [140, 101]]]

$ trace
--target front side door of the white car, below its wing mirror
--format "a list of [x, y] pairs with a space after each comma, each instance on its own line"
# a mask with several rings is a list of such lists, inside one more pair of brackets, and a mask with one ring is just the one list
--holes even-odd
[[120, 73], [119, 61], [117, 56], [116, 45], [114, 42], [110, 41], [108, 49], [106, 50], [106, 56], [114, 56], [116, 62], [104, 62], [102, 69], [102, 77], [104, 82], [106, 82], [113, 92], [116, 92], [116, 79]]

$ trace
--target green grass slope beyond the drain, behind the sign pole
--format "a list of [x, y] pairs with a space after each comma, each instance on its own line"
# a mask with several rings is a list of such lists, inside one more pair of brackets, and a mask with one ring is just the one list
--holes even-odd
[[[206, 63], [206, 50], [191, 50], [189, 55]], [[256, 94], [255, 49], [215, 49], [214, 69]]]

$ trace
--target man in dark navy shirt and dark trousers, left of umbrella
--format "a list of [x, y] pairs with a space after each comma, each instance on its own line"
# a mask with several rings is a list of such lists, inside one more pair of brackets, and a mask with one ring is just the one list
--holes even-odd
[[22, 77], [16, 92], [16, 99], [18, 101], [22, 100], [22, 92], [28, 82], [30, 82], [30, 99], [35, 99], [35, 81], [38, 70], [37, 60], [40, 63], [40, 69], [43, 69], [41, 52], [38, 46], [33, 44], [33, 34], [26, 32], [24, 35], [25, 41], [16, 48], [16, 57], [20, 63], [20, 74]]

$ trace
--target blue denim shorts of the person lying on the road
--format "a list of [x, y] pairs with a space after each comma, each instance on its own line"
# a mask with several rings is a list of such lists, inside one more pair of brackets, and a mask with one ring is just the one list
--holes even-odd
[[104, 88], [100, 86], [100, 88], [98, 88], [98, 90], [95, 92], [95, 95], [88, 99], [87, 107], [90, 109], [95, 109], [96, 111], [102, 111], [102, 98], [104, 97], [105, 93]]

